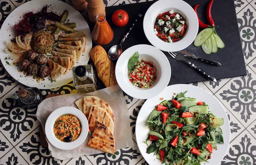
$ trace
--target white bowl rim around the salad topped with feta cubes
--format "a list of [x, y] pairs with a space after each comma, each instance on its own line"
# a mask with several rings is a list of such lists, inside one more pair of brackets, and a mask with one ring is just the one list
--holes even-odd
[[[173, 43], [162, 41], [154, 33], [157, 15], [170, 10], [185, 17], [188, 26], [183, 38]], [[143, 20], [143, 29], [146, 38], [152, 45], [166, 52], [177, 52], [185, 49], [195, 40], [198, 34], [198, 18], [194, 9], [183, 0], [158, 0], [148, 8]]]

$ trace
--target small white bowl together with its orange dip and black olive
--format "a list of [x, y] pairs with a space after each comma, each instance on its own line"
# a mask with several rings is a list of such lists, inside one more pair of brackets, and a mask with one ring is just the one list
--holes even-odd
[[61, 150], [71, 150], [81, 145], [87, 137], [87, 118], [74, 107], [61, 107], [47, 118], [45, 134], [48, 141]]

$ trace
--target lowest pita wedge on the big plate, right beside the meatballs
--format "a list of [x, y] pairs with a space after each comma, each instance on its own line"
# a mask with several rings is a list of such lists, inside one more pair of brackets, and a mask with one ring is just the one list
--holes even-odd
[[52, 80], [56, 80], [61, 75], [63, 75], [64, 72], [66, 72], [66, 68], [64, 68], [61, 65], [53, 62], [49, 58], [47, 59], [47, 61], [48, 61], [48, 64], [49, 64], [49, 69], [50, 69], [50, 74], [51, 74]]

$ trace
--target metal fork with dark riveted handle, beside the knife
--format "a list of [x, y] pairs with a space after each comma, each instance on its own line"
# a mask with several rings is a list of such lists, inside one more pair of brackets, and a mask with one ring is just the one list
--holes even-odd
[[200, 75], [204, 76], [204, 78], [207, 78], [209, 81], [217, 82], [216, 79], [212, 75], [205, 72], [203, 69], [196, 67], [194, 64], [187, 61], [183, 56], [177, 55], [173, 52], [168, 52], [168, 53], [172, 56], [172, 58], [174, 58], [177, 61], [185, 61], [187, 64], [190, 65], [190, 67], [194, 68]]

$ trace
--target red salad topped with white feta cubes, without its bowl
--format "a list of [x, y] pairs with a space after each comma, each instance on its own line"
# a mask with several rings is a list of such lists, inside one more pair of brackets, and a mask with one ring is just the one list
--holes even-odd
[[179, 41], [186, 29], [185, 18], [172, 10], [159, 14], [154, 24], [154, 33], [157, 37], [170, 43]]

